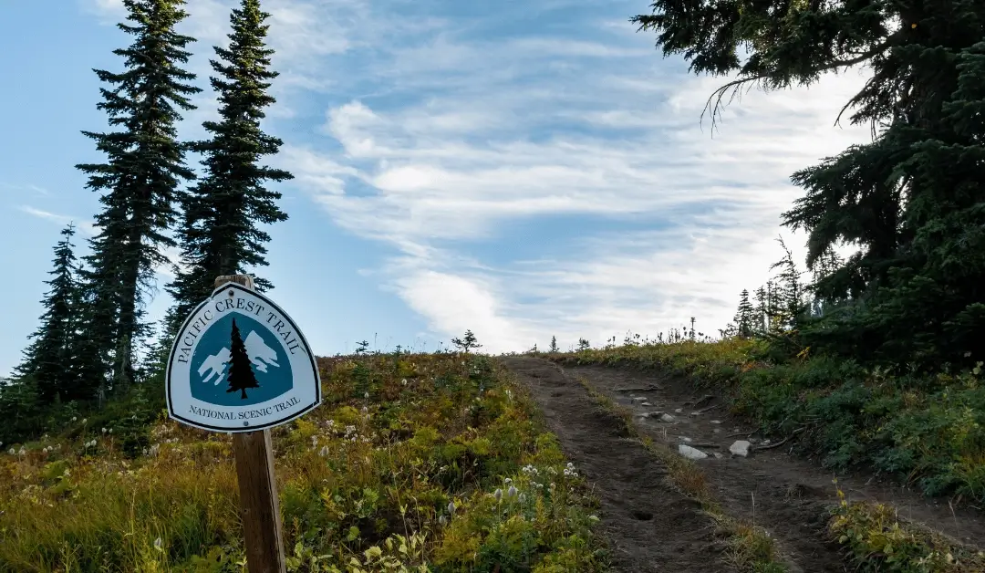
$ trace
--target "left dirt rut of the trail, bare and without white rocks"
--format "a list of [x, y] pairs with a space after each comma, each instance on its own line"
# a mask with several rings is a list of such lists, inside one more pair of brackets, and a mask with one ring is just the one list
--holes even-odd
[[666, 471], [621, 436], [576, 380], [527, 357], [502, 362], [526, 384], [567, 458], [594, 486], [616, 571], [728, 572], [711, 521], [666, 484]]

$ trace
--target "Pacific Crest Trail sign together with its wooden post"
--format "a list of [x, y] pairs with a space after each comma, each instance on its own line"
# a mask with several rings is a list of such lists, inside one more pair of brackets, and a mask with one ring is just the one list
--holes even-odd
[[178, 331], [165, 380], [171, 418], [232, 433], [249, 573], [286, 573], [270, 428], [321, 403], [304, 336], [251, 277], [220, 276]]

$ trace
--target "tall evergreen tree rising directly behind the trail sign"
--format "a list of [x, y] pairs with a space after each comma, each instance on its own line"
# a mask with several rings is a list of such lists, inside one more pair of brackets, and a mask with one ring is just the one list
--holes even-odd
[[[219, 94], [222, 119], [203, 125], [212, 134], [208, 141], [194, 144], [204, 155], [204, 177], [190, 190], [185, 201], [180, 230], [182, 259], [168, 292], [175, 305], [167, 329], [173, 335], [195, 305], [212, 292], [217, 275], [242, 274], [249, 267], [267, 264], [264, 245], [270, 236], [260, 224], [287, 220], [277, 206], [281, 193], [266, 188], [266, 181], [284, 181], [293, 176], [283, 170], [259, 165], [263, 156], [274, 155], [282, 141], [260, 129], [264, 108], [276, 101], [267, 94], [270, 80], [278, 73], [269, 69], [274, 50], [265, 45], [269, 14], [259, 0], [242, 0], [232, 10], [229, 48], [215, 46], [218, 60], [211, 78]], [[257, 290], [270, 289], [270, 281], [254, 280]]]

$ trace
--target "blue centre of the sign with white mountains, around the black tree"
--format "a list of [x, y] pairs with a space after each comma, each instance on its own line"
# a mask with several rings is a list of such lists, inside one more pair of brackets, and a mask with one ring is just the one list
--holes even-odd
[[[246, 399], [230, 388], [229, 351], [232, 347], [232, 320], [246, 344], [253, 375], [259, 388], [246, 389]], [[260, 342], [262, 341], [262, 342]], [[191, 395], [217, 406], [247, 406], [265, 402], [294, 388], [291, 360], [273, 332], [248, 315], [229, 311], [210, 324], [191, 357]], [[225, 360], [224, 360], [225, 358]], [[263, 372], [262, 368], [266, 368]], [[199, 374], [200, 371], [202, 374]], [[216, 384], [217, 377], [221, 377]]]

